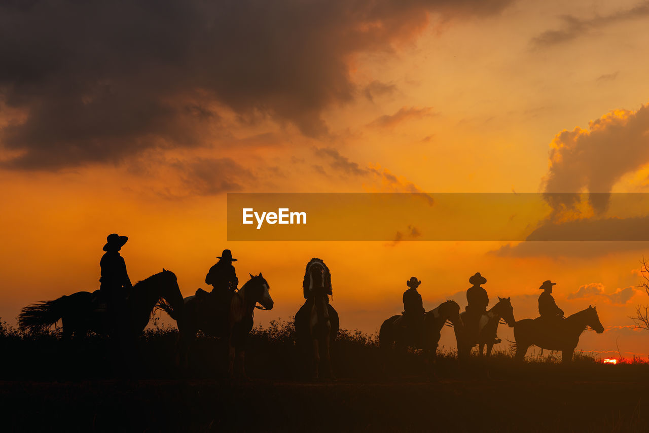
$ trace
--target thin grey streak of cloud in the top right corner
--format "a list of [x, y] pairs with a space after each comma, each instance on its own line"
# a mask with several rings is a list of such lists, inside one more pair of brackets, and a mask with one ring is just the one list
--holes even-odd
[[563, 15], [559, 17], [563, 24], [562, 29], [542, 32], [532, 38], [530, 44], [535, 48], [550, 47], [552, 45], [570, 42], [607, 25], [621, 23], [630, 19], [643, 18], [647, 15], [649, 15], [649, 1], [643, 1], [630, 9], [618, 10], [608, 15], [596, 15], [593, 18], [587, 19], [577, 18], [572, 15]]

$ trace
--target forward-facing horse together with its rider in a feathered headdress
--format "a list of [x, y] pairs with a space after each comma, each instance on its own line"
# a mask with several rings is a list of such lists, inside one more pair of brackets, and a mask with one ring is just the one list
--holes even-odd
[[312, 364], [312, 377], [320, 374], [320, 361], [324, 356], [324, 376], [333, 378], [331, 367], [331, 342], [338, 334], [338, 313], [329, 304], [331, 273], [319, 258], [306, 266], [304, 281], [306, 301], [295, 314], [295, 340], [300, 352]]

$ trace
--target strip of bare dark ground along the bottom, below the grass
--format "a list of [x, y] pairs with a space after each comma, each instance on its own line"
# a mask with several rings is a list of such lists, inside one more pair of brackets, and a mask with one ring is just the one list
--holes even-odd
[[0, 382], [0, 407], [3, 431], [649, 431], [619, 382]]

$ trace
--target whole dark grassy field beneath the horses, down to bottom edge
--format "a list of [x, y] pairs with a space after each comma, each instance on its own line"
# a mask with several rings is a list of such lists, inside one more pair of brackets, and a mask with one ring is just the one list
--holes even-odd
[[[256, 328], [250, 382], [223, 378], [219, 341], [197, 339], [189, 371], [173, 362], [175, 330], [151, 328], [136, 353], [112, 342], [0, 328], [0, 408], [6, 431], [488, 431], [646, 432], [649, 365], [605, 365], [554, 354], [521, 365], [508, 347], [460, 366], [450, 351], [436, 377], [413, 352], [386, 373], [373, 336], [343, 331], [332, 347], [335, 382], [300, 374], [289, 323]], [[127, 378], [125, 378], [127, 377]], [[4, 429], [3, 429], [4, 430]]]

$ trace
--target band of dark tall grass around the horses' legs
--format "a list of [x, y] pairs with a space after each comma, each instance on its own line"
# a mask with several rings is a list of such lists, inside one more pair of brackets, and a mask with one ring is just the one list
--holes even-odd
[[[64, 341], [60, 328], [36, 334], [0, 321], [0, 379], [51, 380], [110, 378], [128, 371], [141, 378], [221, 378], [226, 369], [225, 341], [199, 334], [191, 347], [188, 369], [175, 363], [177, 330], [157, 319], [138, 338], [123, 347], [110, 338], [88, 334], [79, 341]], [[360, 381], [421, 380], [434, 373], [439, 378], [502, 378], [512, 380], [648, 380], [649, 365], [634, 359], [618, 365], [602, 364], [588, 353], [576, 353], [571, 365], [561, 364], [561, 354], [530, 348], [525, 364], [513, 359], [515, 345], [503, 343], [485, 361], [472, 356], [460, 365], [454, 348], [441, 347], [433, 366], [421, 351], [392, 354], [386, 365], [376, 334], [342, 329], [332, 342], [334, 374]], [[272, 321], [252, 330], [247, 344], [247, 372], [273, 380], [306, 378], [310, 361], [295, 346], [293, 321]]]

